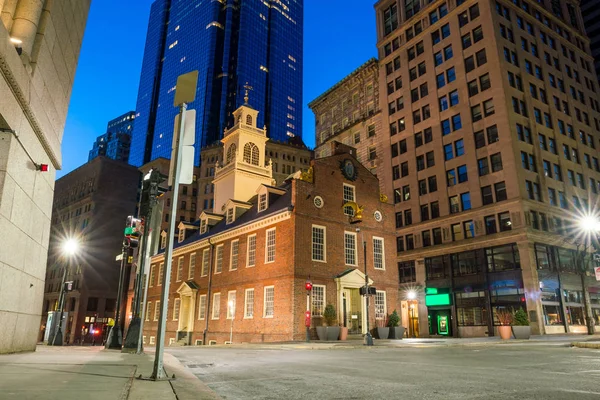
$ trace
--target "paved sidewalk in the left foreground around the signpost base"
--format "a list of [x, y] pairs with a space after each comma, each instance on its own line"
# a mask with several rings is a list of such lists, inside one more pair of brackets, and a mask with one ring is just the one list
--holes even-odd
[[0, 355], [0, 398], [219, 399], [170, 354], [165, 354], [165, 370], [177, 379], [136, 379], [150, 376], [153, 361], [153, 354], [123, 354], [101, 346], [38, 346], [34, 353]]

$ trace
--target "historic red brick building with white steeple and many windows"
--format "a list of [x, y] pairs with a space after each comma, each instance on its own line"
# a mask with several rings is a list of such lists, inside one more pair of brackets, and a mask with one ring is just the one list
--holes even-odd
[[[381, 201], [377, 178], [347, 152], [352, 149], [337, 145], [306, 172], [272, 186], [257, 111], [242, 106], [235, 114], [214, 177], [215, 208], [223, 212], [201, 213], [197, 230], [174, 246], [165, 342], [223, 343], [232, 326], [234, 342], [303, 340], [309, 277], [313, 331], [332, 304], [340, 324], [363, 332], [363, 240], [377, 288], [370, 326], [383, 321], [399, 306], [399, 284], [395, 254], [388, 251], [395, 241], [393, 206]], [[360, 205], [361, 215], [343, 207], [349, 201]], [[146, 344], [155, 342], [163, 271], [161, 253], [151, 259]]]

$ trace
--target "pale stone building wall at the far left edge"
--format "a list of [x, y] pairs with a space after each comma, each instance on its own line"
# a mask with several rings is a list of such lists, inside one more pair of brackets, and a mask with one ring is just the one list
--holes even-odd
[[90, 3], [0, 0], [0, 353], [33, 351], [38, 339], [54, 180]]

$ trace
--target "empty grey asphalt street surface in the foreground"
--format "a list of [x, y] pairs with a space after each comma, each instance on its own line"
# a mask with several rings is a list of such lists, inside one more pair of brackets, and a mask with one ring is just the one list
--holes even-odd
[[223, 399], [600, 399], [600, 351], [564, 344], [167, 351]]

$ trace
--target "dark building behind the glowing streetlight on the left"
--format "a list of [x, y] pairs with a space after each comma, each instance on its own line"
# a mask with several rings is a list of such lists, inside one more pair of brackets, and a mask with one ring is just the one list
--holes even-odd
[[[122, 251], [127, 216], [136, 211], [139, 182], [137, 168], [103, 156], [56, 181], [40, 341], [48, 311], [60, 311], [58, 299], [66, 266], [66, 281], [73, 282], [73, 290], [64, 303], [64, 342], [90, 342], [91, 330], [102, 331], [108, 318], [114, 318], [120, 271], [115, 257]], [[80, 246], [72, 260], [62, 254], [62, 245], [69, 238], [75, 238]], [[98, 342], [102, 336], [97, 336]]]

